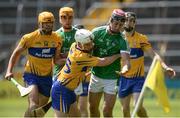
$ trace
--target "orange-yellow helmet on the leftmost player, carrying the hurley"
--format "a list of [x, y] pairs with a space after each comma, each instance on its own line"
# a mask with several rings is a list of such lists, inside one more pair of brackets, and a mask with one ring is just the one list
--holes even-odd
[[41, 12], [38, 16], [38, 22], [39, 23], [54, 22], [54, 21], [55, 21], [54, 15], [48, 11]]

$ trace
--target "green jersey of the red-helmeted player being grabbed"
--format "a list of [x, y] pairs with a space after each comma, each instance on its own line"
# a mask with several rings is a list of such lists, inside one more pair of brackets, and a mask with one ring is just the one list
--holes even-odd
[[[129, 52], [122, 34], [110, 34], [108, 28], [109, 26], [101, 26], [92, 30], [95, 44], [93, 55], [97, 57], [107, 57], [123, 51]], [[118, 79], [119, 76], [115, 71], [120, 71], [120, 58], [108, 66], [92, 68], [92, 73], [102, 79]]]

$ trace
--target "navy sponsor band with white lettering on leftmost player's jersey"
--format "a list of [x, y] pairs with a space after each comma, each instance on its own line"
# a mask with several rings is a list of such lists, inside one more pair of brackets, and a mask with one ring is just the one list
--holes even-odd
[[56, 48], [29, 48], [30, 55], [38, 58], [52, 58], [55, 54]]

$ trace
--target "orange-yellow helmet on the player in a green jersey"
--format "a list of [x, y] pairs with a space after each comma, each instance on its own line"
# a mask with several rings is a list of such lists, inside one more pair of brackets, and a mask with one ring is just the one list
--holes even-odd
[[62, 7], [59, 9], [59, 16], [74, 16], [74, 11], [70, 7]]

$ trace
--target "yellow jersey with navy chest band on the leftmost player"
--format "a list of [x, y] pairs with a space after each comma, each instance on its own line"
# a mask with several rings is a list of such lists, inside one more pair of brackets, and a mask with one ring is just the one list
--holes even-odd
[[52, 76], [52, 60], [56, 51], [60, 52], [62, 39], [55, 32], [41, 35], [39, 30], [26, 34], [19, 42], [26, 48], [27, 63], [25, 73], [37, 76]]

